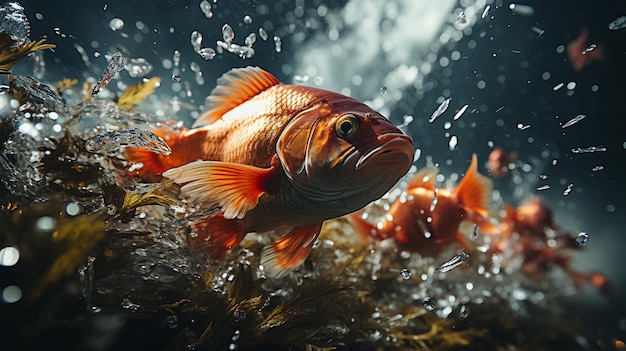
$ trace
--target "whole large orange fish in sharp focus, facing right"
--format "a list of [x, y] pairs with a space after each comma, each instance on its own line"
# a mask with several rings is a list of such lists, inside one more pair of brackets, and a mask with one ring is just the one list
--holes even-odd
[[258, 67], [217, 83], [201, 127], [157, 131], [170, 155], [126, 150], [144, 165], [136, 175], [162, 174], [192, 203], [221, 208], [196, 227], [215, 258], [247, 233], [285, 232], [261, 253], [267, 275], [284, 276], [306, 259], [323, 221], [380, 198], [413, 163], [411, 139], [350, 97], [281, 84]]

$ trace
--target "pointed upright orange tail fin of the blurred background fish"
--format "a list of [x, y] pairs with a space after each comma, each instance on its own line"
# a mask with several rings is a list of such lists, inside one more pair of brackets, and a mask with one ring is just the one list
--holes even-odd
[[489, 202], [493, 183], [491, 179], [478, 173], [478, 158], [472, 155], [472, 163], [465, 176], [453, 191], [453, 195], [466, 211], [474, 212], [483, 218], [489, 214]]

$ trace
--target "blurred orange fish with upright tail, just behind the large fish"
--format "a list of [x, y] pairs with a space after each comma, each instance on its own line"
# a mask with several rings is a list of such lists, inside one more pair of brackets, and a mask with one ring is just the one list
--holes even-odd
[[356, 213], [349, 219], [365, 241], [394, 238], [402, 248], [426, 255], [451, 243], [470, 248], [466, 235], [459, 232], [461, 222], [474, 222], [488, 234], [498, 230], [488, 221], [493, 185], [478, 173], [477, 165], [474, 154], [465, 176], [452, 190], [435, 187], [438, 169], [422, 169], [409, 180], [382, 222], [372, 224]]

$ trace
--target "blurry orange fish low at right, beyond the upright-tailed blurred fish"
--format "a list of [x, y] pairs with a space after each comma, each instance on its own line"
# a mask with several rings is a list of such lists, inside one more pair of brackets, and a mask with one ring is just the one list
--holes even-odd
[[509, 253], [512, 259], [522, 257], [522, 269], [530, 275], [560, 267], [580, 288], [585, 282], [607, 293], [609, 284], [598, 272], [582, 273], [571, 268], [571, 251], [580, 249], [572, 233], [560, 230], [552, 210], [539, 198], [532, 198], [518, 207], [505, 205], [499, 238], [491, 243], [492, 251]]

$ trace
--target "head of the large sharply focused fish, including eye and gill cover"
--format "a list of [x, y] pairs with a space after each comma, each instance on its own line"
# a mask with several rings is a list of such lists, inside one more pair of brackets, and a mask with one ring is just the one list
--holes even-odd
[[345, 199], [362, 207], [406, 174], [414, 149], [411, 138], [384, 116], [333, 93], [291, 120], [278, 140], [277, 153], [304, 196]]

